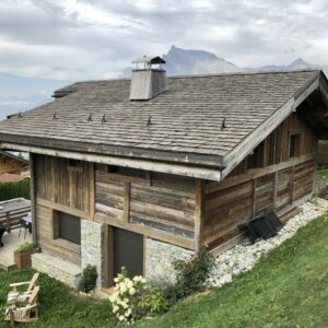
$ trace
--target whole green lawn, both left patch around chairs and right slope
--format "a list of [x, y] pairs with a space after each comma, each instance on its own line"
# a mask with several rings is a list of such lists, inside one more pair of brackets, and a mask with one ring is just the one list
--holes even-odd
[[[32, 270], [0, 272], [0, 306], [9, 283], [31, 276]], [[75, 296], [44, 274], [39, 281], [42, 319], [33, 327], [115, 326], [107, 301]], [[328, 327], [328, 214], [231, 284], [190, 297], [134, 327]]]

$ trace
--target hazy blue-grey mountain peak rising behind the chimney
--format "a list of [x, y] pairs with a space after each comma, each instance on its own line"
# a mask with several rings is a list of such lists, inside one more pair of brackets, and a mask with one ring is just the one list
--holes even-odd
[[[168, 52], [162, 57], [166, 61], [165, 69], [167, 75], [214, 74], [244, 71], [234, 63], [204, 50], [185, 50], [172, 46]], [[131, 67], [126, 68], [121, 77], [129, 78], [131, 75]]]

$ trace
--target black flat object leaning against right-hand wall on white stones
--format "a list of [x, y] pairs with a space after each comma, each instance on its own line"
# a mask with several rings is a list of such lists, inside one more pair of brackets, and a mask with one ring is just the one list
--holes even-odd
[[260, 214], [241, 226], [246, 227], [248, 237], [254, 244], [257, 239], [268, 239], [282, 229], [282, 223], [273, 211]]

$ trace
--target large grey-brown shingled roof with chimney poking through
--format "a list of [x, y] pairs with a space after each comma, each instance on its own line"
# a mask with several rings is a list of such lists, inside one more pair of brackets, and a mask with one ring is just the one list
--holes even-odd
[[0, 142], [222, 167], [320, 79], [317, 70], [175, 77], [150, 101], [129, 101], [130, 80], [79, 82], [0, 122]]

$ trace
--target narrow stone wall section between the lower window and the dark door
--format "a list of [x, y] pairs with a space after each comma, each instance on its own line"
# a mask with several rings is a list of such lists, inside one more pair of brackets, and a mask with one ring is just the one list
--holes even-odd
[[81, 220], [81, 267], [82, 270], [87, 265], [97, 268], [97, 288], [102, 286], [103, 272], [105, 271], [104, 241], [104, 224], [90, 220]]

